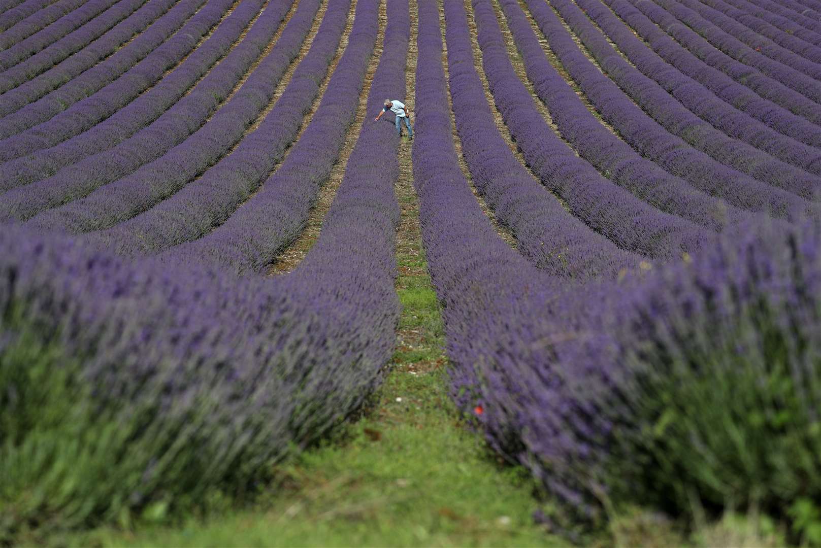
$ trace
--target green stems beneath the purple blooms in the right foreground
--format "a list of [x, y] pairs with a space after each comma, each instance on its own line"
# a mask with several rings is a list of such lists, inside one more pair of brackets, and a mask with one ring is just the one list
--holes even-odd
[[609, 474], [640, 482], [617, 496], [695, 521], [761, 509], [789, 519], [793, 541], [821, 545], [821, 356], [779, 317], [750, 304], [726, 322], [670, 328], [686, 336], [666, 345], [678, 352], [635, 354], [642, 427], [621, 434]]

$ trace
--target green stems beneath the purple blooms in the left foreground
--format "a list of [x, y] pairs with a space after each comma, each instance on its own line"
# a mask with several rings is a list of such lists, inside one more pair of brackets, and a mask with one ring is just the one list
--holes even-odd
[[0, 346], [0, 544], [227, 504], [218, 441], [203, 431], [212, 403], [177, 415], [155, 397], [103, 404], [80, 377], [81, 357], [15, 327]]

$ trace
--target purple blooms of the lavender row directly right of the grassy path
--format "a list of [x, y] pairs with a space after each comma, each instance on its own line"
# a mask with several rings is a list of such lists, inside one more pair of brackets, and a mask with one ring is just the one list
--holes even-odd
[[[445, 2], [445, 9], [447, 13], [461, 8], [458, 2]], [[450, 26], [450, 19], [448, 23]], [[435, 57], [420, 56], [420, 63], [426, 59]], [[602, 477], [606, 460], [646, 462], [635, 460], [640, 454], [613, 454], [619, 444], [612, 437], [612, 412], [631, 409], [629, 404], [635, 403], [638, 395], [636, 390], [629, 391], [635, 385], [618, 382], [625, 379], [622, 373], [631, 373], [625, 367], [628, 355], [646, 350], [648, 346], [642, 342], [653, 340], [662, 349], [658, 354], [669, 349], [678, 357], [681, 350], [687, 352], [687, 343], [697, 338], [695, 333], [687, 336], [687, 327], [694, 320], [699, 323], [698, 330], [709, 330], [710, 320], [715, 322], [722, 316], [732, 323], [738, 301], [753, 303], [760, 296], [769, 299], [771, 290], [777, 295], [771, 302], [782, 296], [784, 302], [791, 302], [790, 297], [795, 299], [806, 287], [791, 283], [796, 278], [812, 281], [816, 295], [821, 279], [818, 234], [803, 242], [810, 251], [806, 258], [799, 254], [804, 260], [782, 261], [790, 254], [789, 246], [777, 239], [768, 242], [768, 247], [745, 253], [744, 244], [750, 242], [746, 238], [739, 245], [727, 246], [734, 251], [742, 249], [741, 253], [711, 250], [703, 260], [696, 256], [693, 267], [675, 266], [651, 274], [650, 283], [636, 280], [629, 281], [630, 285], [586, 285], [581, 291], [567, 291], [562, 298], [561, 286], [555, 281], [534, 282], [533, 273], [524, 266], [507, 267], [513, 259], [488, 251], [490, 244], [477, 241], [479, 226], [463, 221], [461, 213], [466, 206], [457, 205], [453, 198], [461, 189], [452, 184], [452, 178], [440, 179], [442, 168], [430, 160], [447, 148], [447, 134], [440, 134], [441, 141], [427, 141], [424, 109], [431, 98], [424, 94], [419, 81], [415, 180], [420, 185], [429, 270], [439, 299], [447, 304], [443, 317], [453, 365], [454, 398], [465, 410], [481, 405], [484, 412], [478, 420], [491, 445], [529, 467], [557, 500], [566, 503], [574, 517], [593, 518], [601, 512], [600, 502], [590, 493], [594, 487], [599, 487], [599, 493], [601, 488], [609, 490], [609, 480], [613, 479], [624, 481], [628, 487], [638, 484], [631, 484], [633, 476]], [[429, 172], [428, 165], [432, 167]], [[725, 295], [739, 297], [723, 299]], [[807, 309], [815, 306], [817, 303], [810, 304]], [[800, 317], [800, 313], [790, 317]], [[815, 313], [809, 325], [816, 326], [817, 318]], [[719, 323], [724, 327], [728, 322], [713, 325]], [[681, 338], [675, 341], [661, 332], [669, 334], [667, 327], [677, 326], [683, 329], [677, 330]], [[757, 337], [754, 340], [758, 342]], [[683, 345], [677, 346], [677, 341]], [[695, 358], [698, 349], [690, 351], [692, 363], [702, 363]], [[649, 368], [656, 365], [647, 361]], [[618, 401], [619, 397], [624, 400]], [[603, 409], [601, 404], [605, 403], [615, 405]], [[637, 413], [618, 419], [617, 434], [651, 429]], [[628, 500], [635, 502], [635, 491], [630, 493], [634, 497]]]

